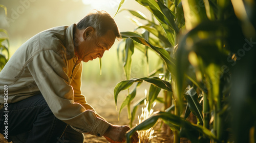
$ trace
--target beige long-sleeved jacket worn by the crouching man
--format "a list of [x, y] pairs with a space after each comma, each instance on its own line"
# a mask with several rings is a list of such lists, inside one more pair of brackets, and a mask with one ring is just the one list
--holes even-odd
[[0, 72], [0, 103], [4, 85], [8, 103], [41, 93], [53, 114], [80, 132], [102, 136], [109, 123], [97, 116], [81, 94], [82, 62], [74, 55], [73, 28], [59, 26], [30, 38]]

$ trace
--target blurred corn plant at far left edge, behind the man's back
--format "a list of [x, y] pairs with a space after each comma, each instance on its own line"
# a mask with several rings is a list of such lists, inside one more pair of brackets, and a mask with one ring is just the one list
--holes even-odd
[[[4, 8], [5, 15], [7, 16], [7, 8], [3, 5], [0, 5], [0, 7]], [[4, 68], [5, 64], [8, 62], [8, 59], [10, 57], [9, 55], [9, 38], [7, 31], [0, 28], [0, 34], [5, 34], [6, 36], [0, 36], [0, 71]]]

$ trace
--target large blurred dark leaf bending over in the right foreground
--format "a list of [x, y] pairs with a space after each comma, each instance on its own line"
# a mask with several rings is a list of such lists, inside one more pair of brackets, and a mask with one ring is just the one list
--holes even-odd
[[[182, 3], [183, 5], [183, 3]], [[219, 30], [222, 30], [222, 24], [220, 22], [214, 21], [205, 21], [200, 23], [198, 26], [190, 30], [180, 41], [179, 48], [176, 52], [177, 57], [177, 95], [179, 98], [183, 96], [183, 91], [186, 88], [185, 79], [188, 78], [191, 80], [200, 90], [207, 92], [206, 88], [202, 84], [202, 80], [198, 80], [196, 76], [195, 70], [190, 70], [191, 64], [188, 60], [188, 57], [191, 58], [191, 53], [196, 53], [196, 55], [200, 55], [204, 61], [203, 64], [221, 63], [221, 61], [225, 61], [226, 57], [223, 51], [219, 51], [216, 44], [217, 40], [220, 40], [218, 37]], [[203, 32], [208, 33], [208, 37], [204, 35], [199, 38], [200, 33]], [[212, 33], [211, 33], [212, 32]], [[207, 47], [207, 48], [206, 48]], [[193, 57], [196, 60], [195, 57]], [[191, 59], [190, 59], [191, 61]], [[198, 60], [196, 60], [198, 61]], [[195, 68], [194, 68], [195, 69]], [[189, 71], [189, 72], [188, 72]], [[200, 72], [197, 72], [200, 73]], [[204, 74], [202, 74], [204, 75]]]

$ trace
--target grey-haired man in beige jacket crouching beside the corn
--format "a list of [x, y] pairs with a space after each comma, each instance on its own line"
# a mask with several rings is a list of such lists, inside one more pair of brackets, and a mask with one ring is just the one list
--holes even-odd
[[81, 94], [81, 61], [101, 58], [116, 37], [114, 19], [97, 11], [20, 46], [0, 72], [0, 132], [14, 143], [83, 142], [82, 133], [125, 141], [130, 128], [106, 122]]

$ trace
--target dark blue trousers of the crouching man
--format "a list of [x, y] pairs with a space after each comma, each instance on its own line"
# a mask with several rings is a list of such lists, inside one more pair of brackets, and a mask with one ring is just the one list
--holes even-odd
[[0, 110], [0, 133], [8, 126], [8, 141], [26, 143], [83, 142], [83, 134], [58, 120], [41, 94], [8, 104], [6, 112]]

